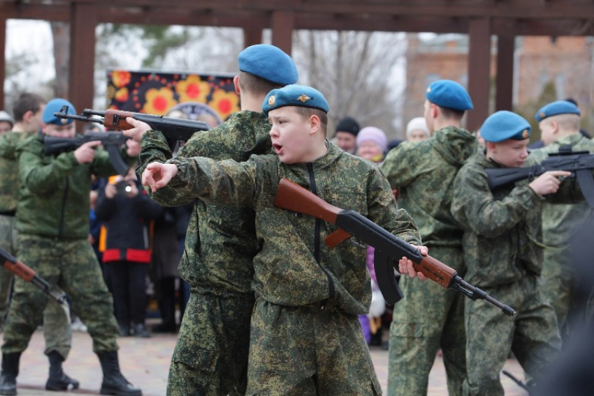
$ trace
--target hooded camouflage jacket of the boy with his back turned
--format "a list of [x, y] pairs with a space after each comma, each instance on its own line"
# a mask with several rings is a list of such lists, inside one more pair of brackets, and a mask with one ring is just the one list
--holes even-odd
[[386, 156], [382, 171], [426, 245], [461, 246], [463, 232], [450, 213], [454, 177], [476, 150], [470, 132], [447, 127], [423, 142], [403, 142]]

